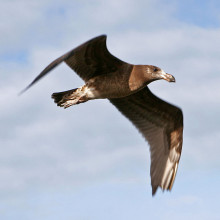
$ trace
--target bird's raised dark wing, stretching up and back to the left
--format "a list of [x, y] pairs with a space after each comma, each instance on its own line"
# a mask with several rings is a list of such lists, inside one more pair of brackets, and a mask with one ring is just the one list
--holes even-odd
[[63, 61], [84, 81], [105, 73], [116, 71], [125, 62], [111, 55], [106, 46], [106, 35], [93, 38], [77, 48], [65, 53], [50, 63], [21, 93], [25, 92], [43, 76]]

